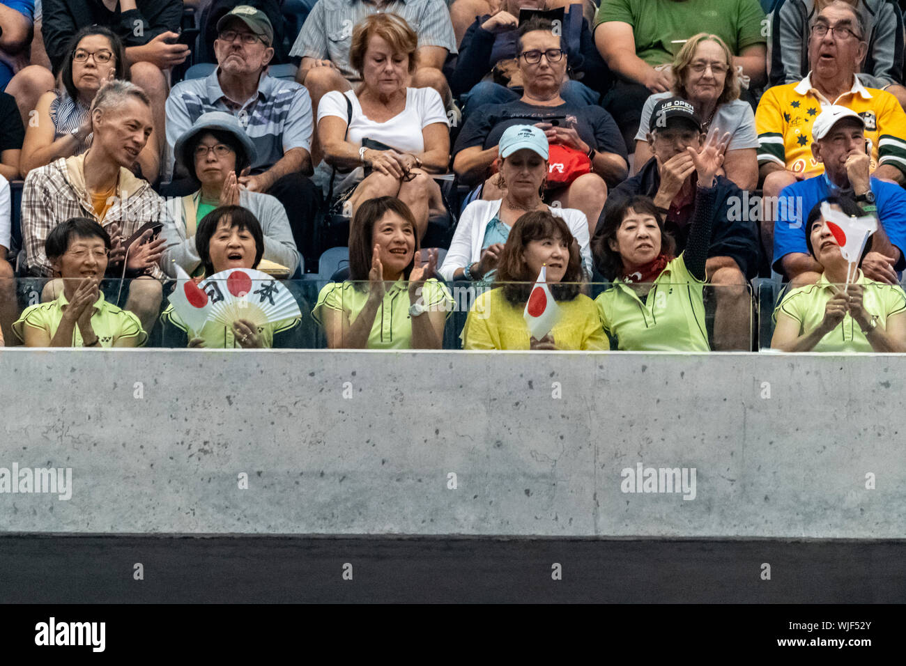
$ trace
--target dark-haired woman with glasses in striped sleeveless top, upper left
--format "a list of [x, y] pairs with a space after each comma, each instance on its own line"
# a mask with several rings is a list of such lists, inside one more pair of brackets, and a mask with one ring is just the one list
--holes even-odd
[[[92, 145], [92, 120], [88, 110], [101, 85], [112, 79], [129, 80], [129, 66], [120, 38], [108, 28], [82, 28], [70, 41], [69, 57], [63, 63], [62, 91], [43, 93], [28, 123], [20, 168], [28, 172], [54, 159], [82, 155]], [[141, 151], [141, 173], [157, 168], [152, 142]]]

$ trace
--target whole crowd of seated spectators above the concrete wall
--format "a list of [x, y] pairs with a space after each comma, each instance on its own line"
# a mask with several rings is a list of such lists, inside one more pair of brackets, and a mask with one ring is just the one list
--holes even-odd
[[0, 344], [906, 351], [901, 5], [0, 0]]

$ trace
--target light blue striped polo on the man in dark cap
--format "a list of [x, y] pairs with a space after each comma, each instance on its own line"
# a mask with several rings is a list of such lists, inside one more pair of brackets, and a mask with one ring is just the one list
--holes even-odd
[[236, 116], [248, 138], [255, 143], [258, 158], [252, 172], [269, 169], [283, 158], [287, 150], [311, 151], [312, 100], [303, 86], [268, 76], [258, 81], [258, 93], [245, 103], [226, 97], [220, 88], [217, 72], [205, 79], [189, 79], [173, 86], [167, 98], [167, 143], [169, 171], [173, 174], [173, 146], [176, 140], [208, 111], [226, 111]]

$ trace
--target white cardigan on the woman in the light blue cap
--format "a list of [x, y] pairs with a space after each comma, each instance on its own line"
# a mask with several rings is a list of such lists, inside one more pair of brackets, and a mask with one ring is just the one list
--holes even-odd
[[[481, 259], [481, 244], [485, 240], [487, 223], [500, 211], [500, 203], [501, 199], [477, 199], [462, 211], [447, 256], [438, 271], [445, 280], [451, 281], [457, 268], [465, 268]], [[547, 208], [555, 216], [564, 218], [566, 226], [579, 243], [583, 272], [586, 277], [592, 275], [592, 250], [589, 247], [588, 219], [585, 214], [575, 208]]]

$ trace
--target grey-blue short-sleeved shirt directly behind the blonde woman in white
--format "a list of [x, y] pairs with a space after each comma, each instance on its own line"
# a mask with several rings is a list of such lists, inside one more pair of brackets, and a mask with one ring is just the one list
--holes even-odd
[[329, 60], [349, 81], [361, 76], [349, 62], [352, 28], [371, 14], [399, 14], [419, 35], [419, 48], [439, 46], [457, 53], [456, 37], [444, 0], [393, 0], [380, 8], [363, 0], [318, 0], [305, 19], [290, 55]]

